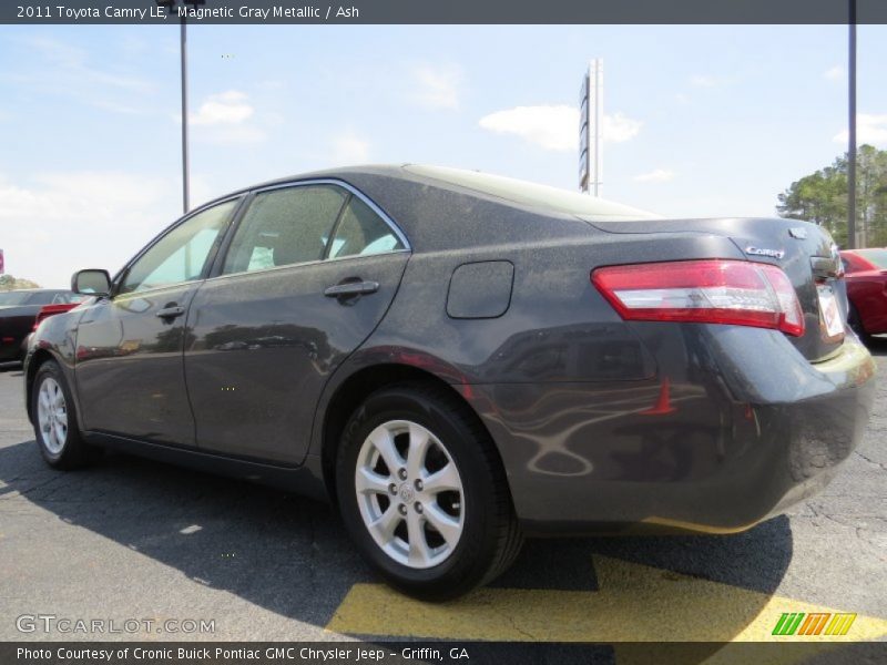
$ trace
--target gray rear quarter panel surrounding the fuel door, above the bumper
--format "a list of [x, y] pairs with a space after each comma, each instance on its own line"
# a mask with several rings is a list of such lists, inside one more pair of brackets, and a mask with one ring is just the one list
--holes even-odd
[[[706, 256], [742, 258], [733, 243], [716, 236], [675, 234], [644, 243], [592, 231], [582, 238], [417, 253], [385, 320], [349, 365], [371, 362], [385, 348], [434, 359], [452, 383], [649, 378], [655, 374], [652, 357], [592, 286], [590, 273], [611, 264]], [[514, 266], [508, 309], [493, 318], [448, 316], [453, 270], [489, 260]]]

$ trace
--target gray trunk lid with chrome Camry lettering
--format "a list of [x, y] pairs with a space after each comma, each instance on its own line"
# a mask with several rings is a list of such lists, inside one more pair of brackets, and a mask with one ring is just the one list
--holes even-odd
[[[843, 336], [829, 337], [820, 311], [819, 290], [835, 294], [842, 320], [847, 320], [847, 291], [837, 247], [827, 231], [809, 222], [782, 218], [639, 219], [598, 222], [595, 228], [616, 234], [699, 233], [728, 237], [751, 262], [782, 268], [792, 282], [804, 310], [802, 337], [788, 339], [810, 361], [834, 354]], [[713, 257], [726, 258], [726, 257]], [[824, 296], [827, 297], [827, 296]]]

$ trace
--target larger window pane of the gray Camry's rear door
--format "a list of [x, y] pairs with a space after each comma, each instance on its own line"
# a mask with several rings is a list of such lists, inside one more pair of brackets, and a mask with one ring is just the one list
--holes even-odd
[[320, 260], [347, 193], [299, 185], [256, 194], [231, 243], [223, 274]]

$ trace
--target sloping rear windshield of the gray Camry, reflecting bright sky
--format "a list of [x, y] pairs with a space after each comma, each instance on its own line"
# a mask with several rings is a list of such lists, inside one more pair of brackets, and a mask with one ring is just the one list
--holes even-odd
[[467, 190], [503, 198], [527, 207], [546, 208], [577, 215], [589, 222], [619, 222], [622, 219], [659, 219], [660, 215], [623, 205], [605, 198], [579, 194], [559, 187], [539, 185], [527, 181], [478, 171], [462, 171], [443, 166], [407, 165], [405, 170]]

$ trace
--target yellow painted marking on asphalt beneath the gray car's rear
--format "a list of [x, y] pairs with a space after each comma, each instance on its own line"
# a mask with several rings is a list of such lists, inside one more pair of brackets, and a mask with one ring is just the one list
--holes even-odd
[[859, 615], [847, 635], [774, 636], [783, 612], [840, 612], [638, 563], [594, 556], [600, 591], [480, 589], [443, 604], [355, 584], [327, 624], [359, 635], [540, 642], [823, 642], [877, 640]]

